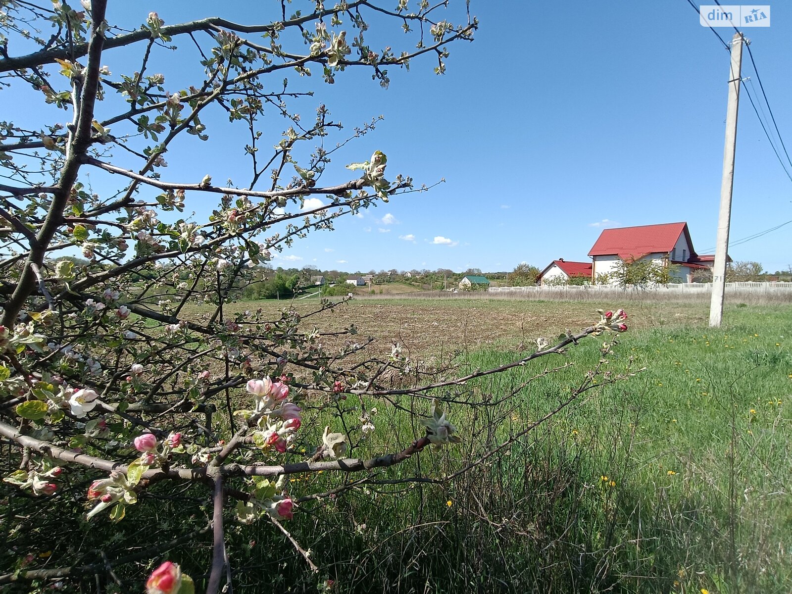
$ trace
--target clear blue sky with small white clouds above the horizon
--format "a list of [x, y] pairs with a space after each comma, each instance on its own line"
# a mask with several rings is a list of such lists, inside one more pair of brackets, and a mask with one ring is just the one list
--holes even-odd
[[[168, 24], [215, 14], [262, 22], [273, 18], [263, 7], [276, 4], [111, 2], [109, 18], [130, 28], [149, 10]], [[527, 261], [543, 268], [558, 257], [587, 260], [605, 226], [681, 220], [699, 253], [714, 247], [729, 56], [685, 0], [473, 0], [470, 10], [480, 29], [472, 44], [451, 44], [444, 76], [433, 74], [436, 63], [427, 57], [414, 61], [409, 73], [391, 70], [390, 89], [363, 70], [339, 74], [334, 86], [318, 74], [308, 81], [316, 97], [297, 109], [307, 117], [319, 102], [346, 131], [385, 117], [374, 133], [341, 151], [323, 181], [344, 181], [348, 162], [379, 149], [389, 158], [388, 177], [405, 173], [417, 184], [441, 177], [445, 183], [395, 198], [363, 218], [339, 219], [335, 231], [295, 242], [277, 264], [495, 271]], [[770, 28], [745, 33], [792, 150], [792, 4], [775, 2], [771, 10]], [[730, 29], [719, 31], [731, 37]], [[388, 39], [398, 48], [402, 35]], [[177, 42], [188, 49], [188, 41]], [[125, 60], [140, 51], [110, 51], [113, 74], [116, 64], [124, 70]], [[164, 60], [170, 75], [167, 67], [181, 66], [174, 62], [178, 55], [159, 50], [154, 59]], [[756, 98], [758, 81], [747, 53], [745, 59], [743, 75], [752, 78], [754, 87], [747, 84]], [[180, 74], [188, 84], [189, 70]], [[283, 128], [273, 125], [276, 134]], [[211, 173], [215, 182], [246, 183], [244, 141], [211, 129], [210, 135], [210, 151], [169, 154], [163, 175], [198, 181]], [[188, 208], [200, 215], [210, 205], [188, 202]], [[792, 181], [743, 94], [732, 239], [790, 219]], [[771, 271], [786, 268], [792, 265], [790, 230], [792, 224], [729, 252]]]

